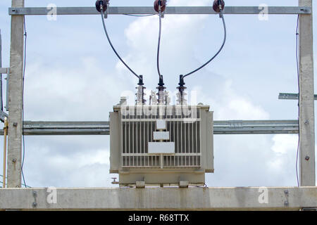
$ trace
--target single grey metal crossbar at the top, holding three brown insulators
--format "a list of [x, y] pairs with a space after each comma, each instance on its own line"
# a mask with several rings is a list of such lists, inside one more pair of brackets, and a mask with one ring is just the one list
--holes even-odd
[[[263, 6], [226, 6], [224, 14], [259, 14]], [[55, 11], [55, 10], [54, 10]], [[51, 15], [52, 8], [8, 8], [9, 15]], [[211, 6], [168, 6], [165, 14], [217, 14]], [[99, 14], [95, 7], [56, 7], [56, 15], [94, 15]], [[109, 15], [157, 14], [153, 6], [109, 7]], [[311, 14], [309, 6], [269, 6], [267, 14]]]

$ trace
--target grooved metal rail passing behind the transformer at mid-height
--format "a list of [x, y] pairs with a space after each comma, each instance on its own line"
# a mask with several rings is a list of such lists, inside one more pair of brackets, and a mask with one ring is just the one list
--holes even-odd
[[[214, 121], [213, 134], [298, 134], [297, 120]], [[4, 134], [0, 130], [0, 134]], [[25, 121], [27, 136], [109, 135], [109, 122], [38, 122]]]

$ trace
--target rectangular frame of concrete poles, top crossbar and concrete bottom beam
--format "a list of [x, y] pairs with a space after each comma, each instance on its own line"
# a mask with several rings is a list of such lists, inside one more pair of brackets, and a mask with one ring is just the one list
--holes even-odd
[[[143, 7], [144, 11], [138, 7], [111, 7], [108, 10], [108, 14], [145, 14], [145, 13], [155, 13], [150, 7]], [[140, 11], [137, 11], [139, 9]], [[190, 11], [189, 11], [190, 10]], [[259, 7], [226, 7], [226, 14], [258, 14], [263, 10]], [[38, 191], [40, 194], [45, 192], [45, 189], [21, 189], [21, 152], [22, 152], [22, 134], [23, 134], [23, 121], [22, 121], [22, 109], [23, 109], [23, 20], [24, 15], [47, 15], [50, 9], [47, 8], [24, 8], [24, 0], [12, 0], [12, 7], [9, 8], [9, 14], [11, 15], [11, 56], [10, 56], [10, 81], [8, 85], [9, 89], [9, 119], [8, 119], [8, 189], [0, 190], [0, 208], [17, 208], [17, 209], [32, 209], [32, 200], [34, 196], [32, 191]], [[57, 8], [58, 15], [92, 15], [97, 14], [93, 7], [89, 8]], [[211, 7], [168, 7], [166, 14], [214, 14]], [[300, 179], [301, 186], [315, 186], [315, 148], [314, 148], [314, 111], [313, 111], [313, 32], [312, 32], [312, 0], [299, 0], [299, 7], [269, 7], [268, 14], [298, 14], [299, 15], [299, 66], [300, 66], [300, 94], [299, 94], [299, 134], [301, 136], [300, 140]], [[307, 158], [309, 158], [307, 160]], [[15, 189], [18, 188], [18, 189]], [[189, 192], [199, 192], [199, 188], [192, 188], [185, 191], [173, 191], [164, 188], [157, 188], [156, 190], [142, 191], [129, 189], [123, 192], [128, 193], [130, 196], [137, 196], [139, 194], [147, 197], [151, 195], [151, 191], [164, 192], [164, 195], [159, 195], [157, 201], [152, 201], [149, 203], [147, 209], [164, 209], [168, 207], [163, 205], [155, 205], [156, 202], [160, 203], [161, 196], [164, 196], [167, 202], [170, 202], [170, 209], [192, 209], [188, 205], [179, 205], [178, 203], [186, 203], [184, 199], [176, 199], [183, 192], [186, 192], [186, 196], [190, 196]], [[271, 195], [273, 198], [273, 203], [271, 205], [259, 205], [255, 200], [249, 200], [250, 193], [254, 194], [254, 190], [259, 191], [259, 188], [218, 188], [216, 190], [208, 189], [209, 199], [218, 199], [217, 202], [212, 201], [209, 205], [206, 205], [205, 210], [210, 209], [285, 209], [285, 199], [292, 198], [294, 200], [294, 205], [292, 201], [290, 203], [290, 209], [299, 210], [301, 207], [316, 207], [316, 188], [292, 188], [290, 195], [286, 196], [285, 188], [271, 188]], [[120, 204], [124, 204], [125, 201], [116, 202], [116, 199], [103, 200], [99, 198], [100, 196], [113, 196], [110, 191], [99, 190], [101, 195], [96, 195], [96, 191], [99, 189], [58, 189], [58, 192], [63, 196], [69, 197], [66, 199], [66, 203], [54, 205], [53, 209], [96, 209], [95, 203], [100, 203], [101, 207], [98, 209], [145, 209], [142, 207], [141, 202], [136, 200], [137, 205], [131, 205], [130, 207], [121, 207]], [[308, 191], [307, 191], [308, 190]], [[116, 191], [121, 192], [120, 189]], [[230, 194], [233, 191], [235, 194]], [[138, 193], [136, 193], [138, 192]], [[175, 193], [174, 193], [175, 192]], [[181, 193], [182, 192], [182, 193]], [[188, 192], [188, 193], [187, 193]], [[92, 195], [94, 197], [98, 196], [97, 202], [91, 200], [85, 200], [83, 198], [72, 198], [72, 195], [80, 196], [83, 193], [85, 196]], [[170, 193], [170, 195], [169, 195]], [[174, 195], [172, 195], [174, 193]], [[226, 194], [228, 193], [228, 195]], [[284, 196], [285, 199], [280, 196]], [[287, 192], [288, 193], [288, 192]], [[30, 196], [29, 196], [30, 195]], [[237, 196], [235, 196], [237, 195]], [[12, 198], [10, 198], [10, 196]], [[117, 195], [116, 195], [117, 196]], [[119, 195], [118, 195], [119, 196]], [[183, 196], [183, 195], [182, 195]], [[201, 198], [197, 199], [208, 199], [205, 198], [203, 193], [199, 194]], [[216, 198], [218, 196], [219, 198]], [[230, 197], [231, 196], [231, 197]], [[245, 199], [243, 198], [245, 197]], [[6, 198], [10, 200], [6, 201]], [[107, 197], [108, 198], [108, 197]], [[112, 198], [112, 197], [110, 197]], [[25, 199], [25, 201], [23, 201]], [[45, 198], [46, 199], [46, 198]], [[62, 198], [63, 199], [63, 198]], [[70, 201], [69, 199], [73, 200]], [[146, 200], [147, 198], [142, 198]], [[278, 200], [276, 202], [275, 200]], [[175, 201], [173, 201], [175, 200]], [[237, 200], [237, 202], [232, 202], [232, 200]], [[240, 200], [246, 203], [245, 205], [240, 204]], [[89, 207], [89, 203], [94, 203], [95, 206]], [[106, 205], [102, 205], [105, 204]], [[195, 201], [189, 201], [189, 205], [194, 205], [193, 210], [201, 209], [200, 205], [195, 205]], [[71, 206], [73, 204], [73, 206]], [[85, 205], [86, 204], [86, 205]], [[117, 205], [116, 205], [117, 204]], [[119, 205], [118, 205], [119, 204]], [[151, 205], [152, 204], [152, 205]], [[154, 205], [153, 205], [154, 204]], [[198, 202], [197, 202], [198, 204]], [[165, 204], [164, 204], [165, 205]], [[39, 203], [42, 209], [49, 209], [51, 206], [47, 203]], [[34, 208], [33, 208], [34, 209]]]

